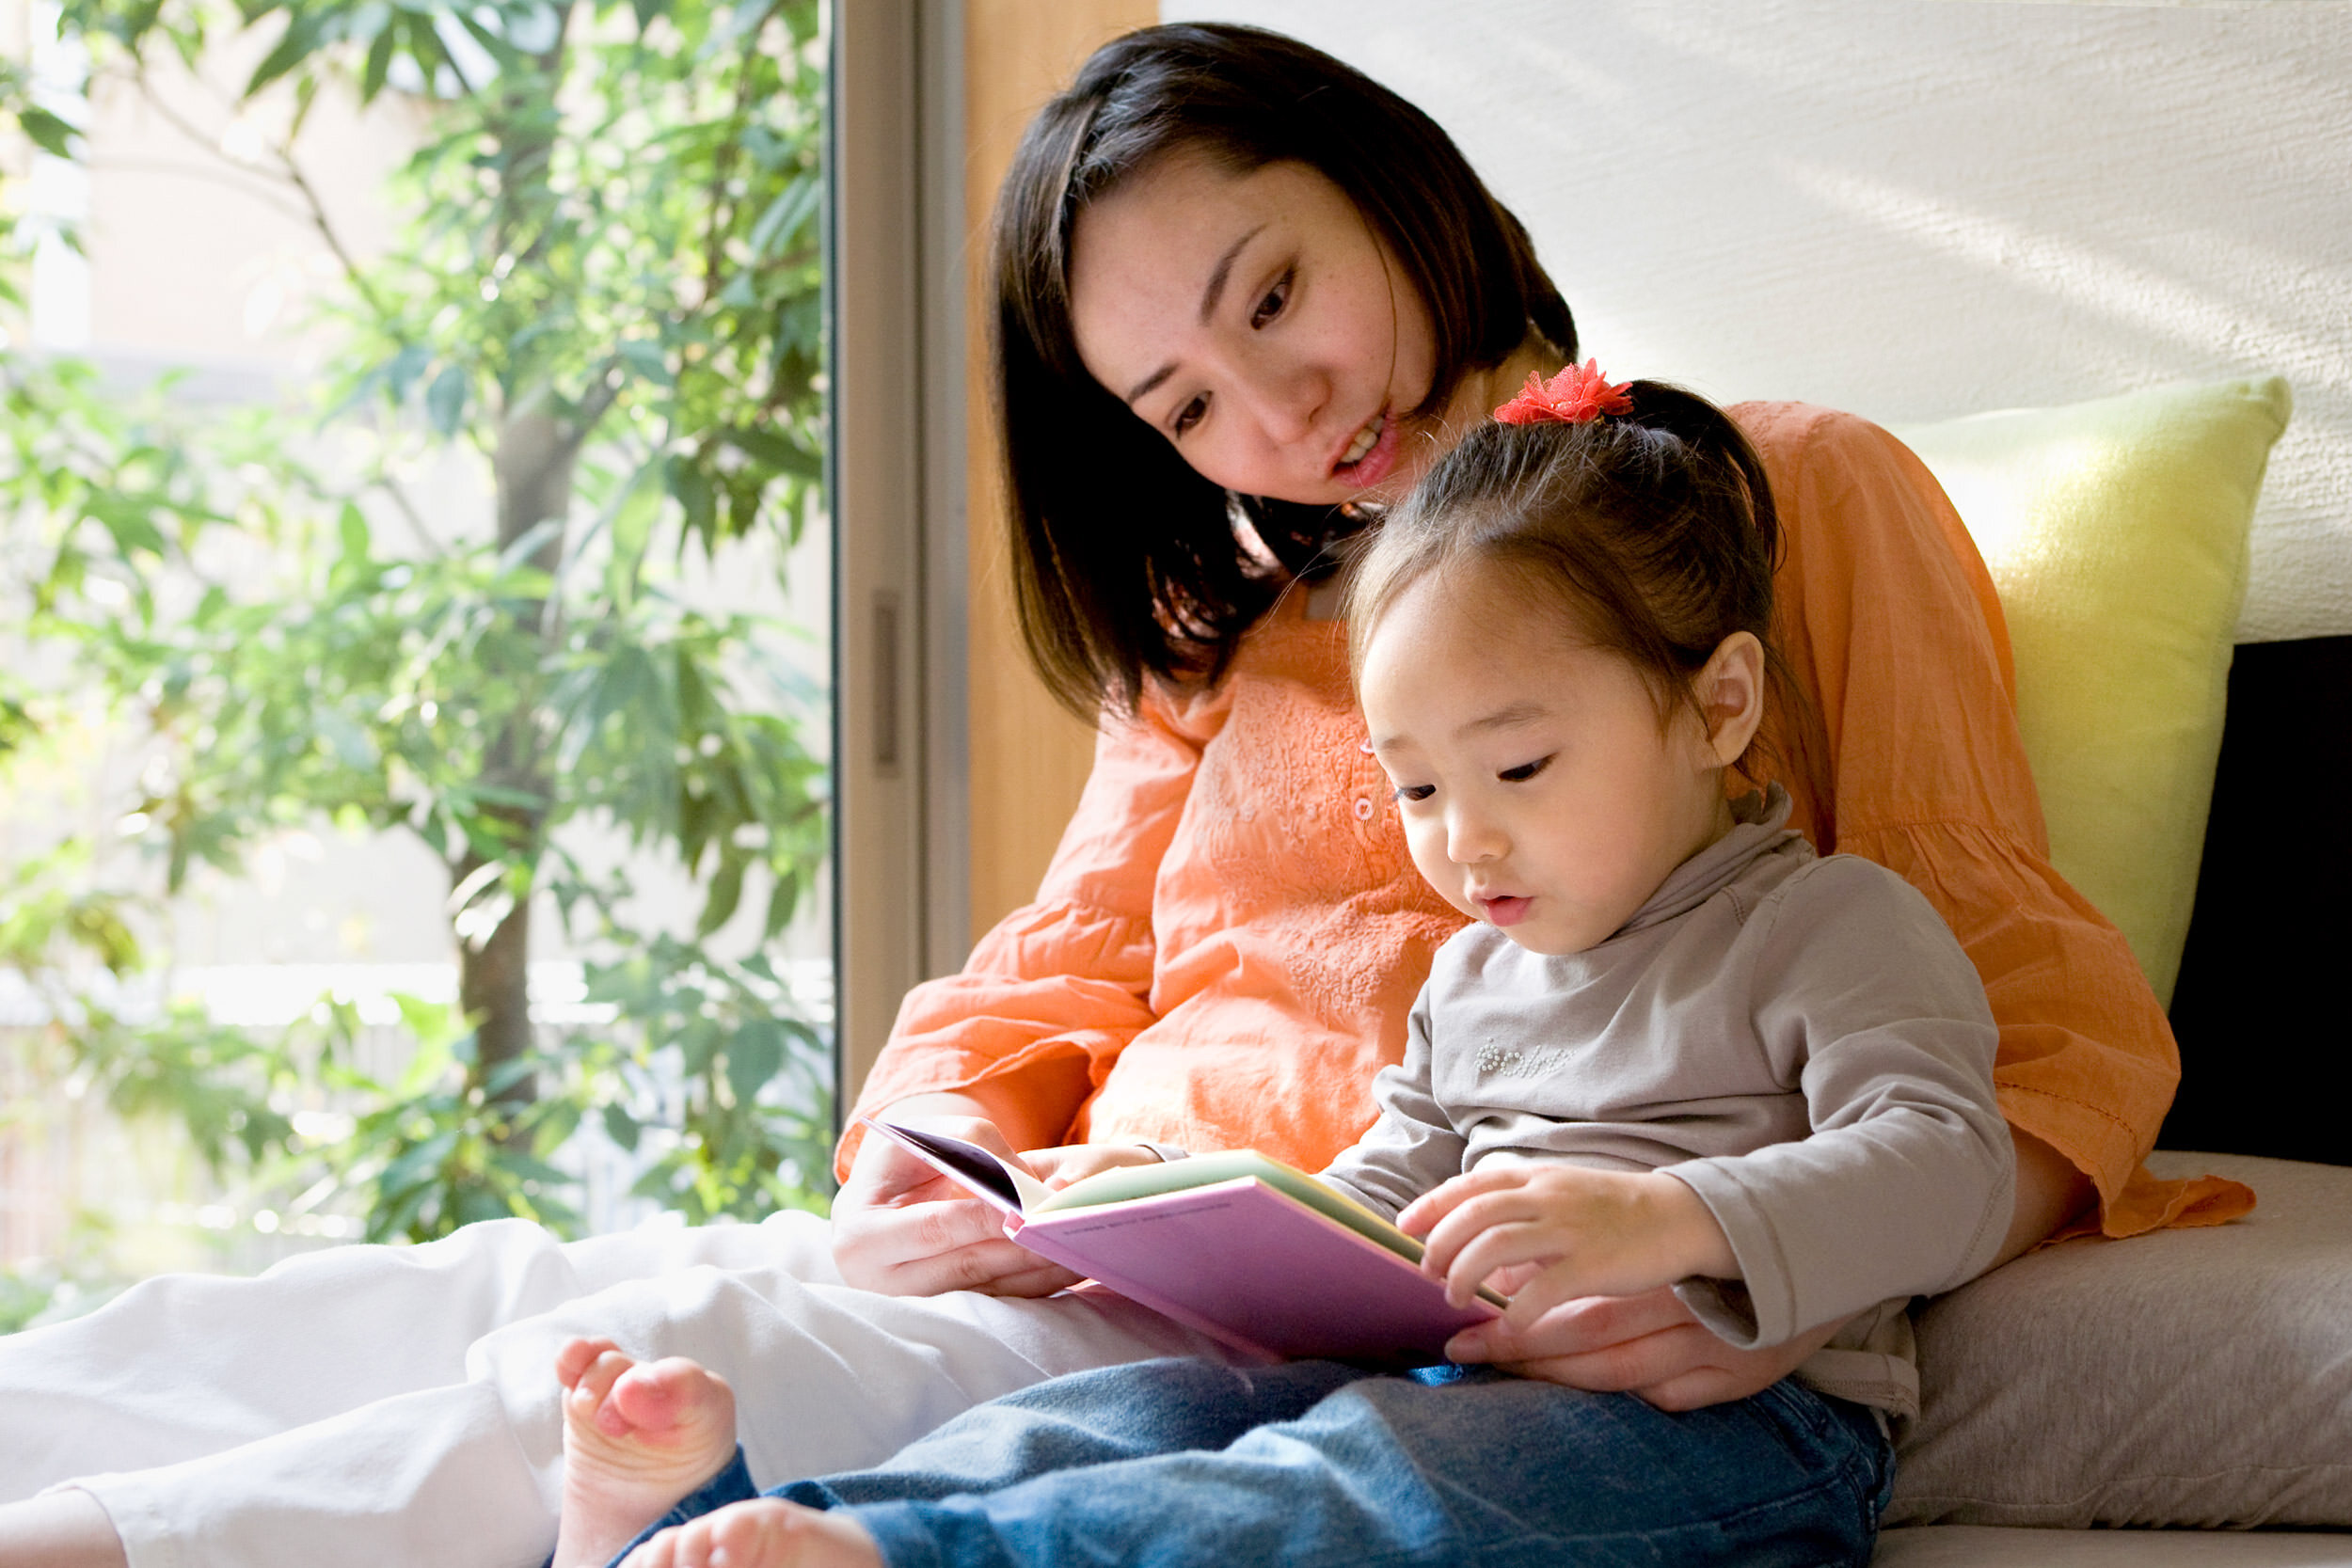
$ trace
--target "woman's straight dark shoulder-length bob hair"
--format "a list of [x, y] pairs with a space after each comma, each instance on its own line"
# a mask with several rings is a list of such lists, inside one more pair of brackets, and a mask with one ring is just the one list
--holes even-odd
[[[1531, 331], [1576, 353], [1526, 230], [1390, 89], [1244, 26], [1157, 26], [1096, 49], [1021, 136], [990, 244], [1014, 604], [1037, 672], [1089, 719], [1105, 701], [1131, 708], [1152, 677], [1216, 682], [1284, 581], [1329, 571], [1324, 548], [1355, 527], [1334, 508], [1225, 494], [1080, 362], [1070, 233], [1089, 202], [1174, 153], [1232, 174], [1296, 160], [1355, 202], [1437, 336], [1423, 409]], [[1235, 510], [1279, 571], [1242, 545]]]

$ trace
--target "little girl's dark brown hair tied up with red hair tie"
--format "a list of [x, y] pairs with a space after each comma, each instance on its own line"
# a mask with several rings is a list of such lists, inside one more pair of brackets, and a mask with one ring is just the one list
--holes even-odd
[[[1783, 726], [1802, 726], [1809, 710], [1771, 635], [1780, 522], [1762, 458], [1696, 393], [1663, 381], [1625, 393], [1630, 414], [1489, 423], [1430, 468], [1348, 581], [1357, 672], [1406, 588], [1486, 569], [1578, 639], [1642, 670], [1661, 724], [1677, 708], [1705, 722], [1693, 677], [1724, 637], [1752, 632], [1764, 644], [1769, 708]], [[1738, 769], [1752, 776], [1745, 755]]]

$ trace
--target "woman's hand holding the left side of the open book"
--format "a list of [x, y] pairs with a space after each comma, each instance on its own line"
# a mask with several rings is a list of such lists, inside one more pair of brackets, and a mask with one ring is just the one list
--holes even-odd
[[[1021, 1161], [993, 1121], [920, 1117], [920, 1126]], [[1150, 1150], [1136, 1150], [1150, 1154]], [[891, 1138], [858, 1145], [849, 1180], [833, 1199], [833, 1265], [861, 1291], [882, 1295], [1051, 1295], [1077, 1274], [1004, 1237], [1004, 1215], [967, 1194]]]

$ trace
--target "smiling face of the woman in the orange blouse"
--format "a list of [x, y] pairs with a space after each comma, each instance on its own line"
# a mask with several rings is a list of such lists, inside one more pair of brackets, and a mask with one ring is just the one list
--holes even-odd
[[1430, 395], [1430, 315], [1355, 202], [1301, 162], [1232, 174], [1178, 153], [1087, 207], [1070, 317], [1094, 378], [1247, 496], [1397, 501], [1461, 423], [1404, 418]]

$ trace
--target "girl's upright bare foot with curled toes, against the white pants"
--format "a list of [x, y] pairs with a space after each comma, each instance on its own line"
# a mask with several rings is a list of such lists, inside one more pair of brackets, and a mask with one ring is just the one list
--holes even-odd
[[612, 1340], [555, 1352], [564, 1512], [555, 1568], [604, 1568], [734, 1455], [734, 1389], [684, 1356], [637, 1366]]

